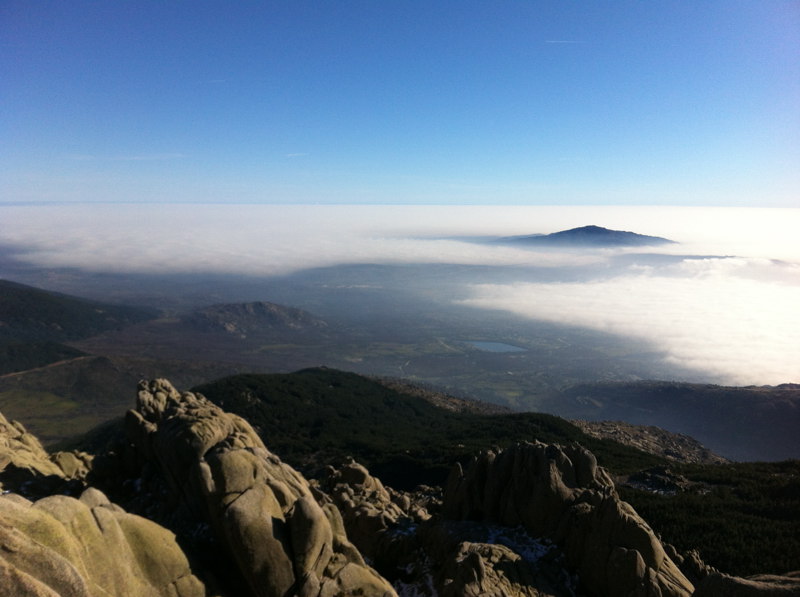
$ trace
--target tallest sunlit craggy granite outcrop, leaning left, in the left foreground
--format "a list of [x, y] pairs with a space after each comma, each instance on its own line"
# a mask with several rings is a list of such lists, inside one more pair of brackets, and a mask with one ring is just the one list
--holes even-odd
[[244, 419], [165, 380], [142, 382], [126, 427], [176, 512], [210, 525], [257, 597], [395, 595], [347, 539], [339, 511]]

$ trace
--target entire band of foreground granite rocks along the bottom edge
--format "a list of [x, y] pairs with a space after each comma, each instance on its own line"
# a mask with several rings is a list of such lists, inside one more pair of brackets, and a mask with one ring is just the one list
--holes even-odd
[[[244, 419], [164, 380], [140, 384], [125, 427], [126, 438], [92, 460], [49, 455], [0, 415], [0, 596], [768, 597], [800, 590], [796, 574], [734, 578], [696, 552], [662, 545], [579, 446], [522, 443], [482, 453], [454, 468], [442, 494], [393, 490], [352, 460], [308, 482]], [[647, 475], [648, 482], [684, 482], [667, 470]], [[47, 492], [80, 497], [37, 499]]]

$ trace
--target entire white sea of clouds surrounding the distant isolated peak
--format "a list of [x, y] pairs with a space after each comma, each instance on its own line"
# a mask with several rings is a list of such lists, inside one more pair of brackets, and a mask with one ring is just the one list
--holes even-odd
[[[724, 383], [800, 382], [800, 209], [69, 204], [4, 205], [0, 221], [0, 245], [16, 260], [92, 272], [271, 276], [349, 263], [590, 272], [476, 279], [453, 300], [647, 339]], [[588, 224], [673, 239], [644, 252], [676, 258], [473, 242]]]

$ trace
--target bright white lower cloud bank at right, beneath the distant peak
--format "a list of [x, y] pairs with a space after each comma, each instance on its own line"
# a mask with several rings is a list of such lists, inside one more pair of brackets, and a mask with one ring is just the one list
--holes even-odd
[[800, 286], [727, 277], [622, 276], [477, 285], [466, 304], [650, 340], [677, 365], [731, 384], [800, 380]]

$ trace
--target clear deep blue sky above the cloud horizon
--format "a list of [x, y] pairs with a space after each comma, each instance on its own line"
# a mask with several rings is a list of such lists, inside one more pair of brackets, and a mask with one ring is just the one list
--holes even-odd
[[800, 206], [800, 2], [0, 0], [0, 202]]

